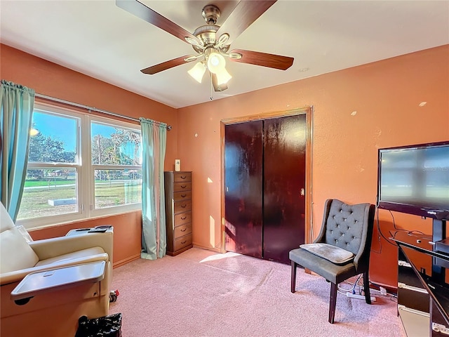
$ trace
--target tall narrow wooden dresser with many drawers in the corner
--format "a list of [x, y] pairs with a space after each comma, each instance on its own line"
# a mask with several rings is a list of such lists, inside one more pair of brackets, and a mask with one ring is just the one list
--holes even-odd
[[166, 171], [167, 254], [192, 248], [192, 172]]

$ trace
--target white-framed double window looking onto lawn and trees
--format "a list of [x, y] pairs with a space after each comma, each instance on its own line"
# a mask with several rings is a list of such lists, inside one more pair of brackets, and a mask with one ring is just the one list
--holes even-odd
[[18, 222], [27, 228], [140, 209], [140, 126], [36, 105]]

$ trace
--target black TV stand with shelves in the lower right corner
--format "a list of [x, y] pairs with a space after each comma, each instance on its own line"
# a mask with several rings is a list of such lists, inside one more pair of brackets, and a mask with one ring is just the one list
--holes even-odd
[[407, 336], [448, 336], [449, 254], [436, 251], [445, 239], [446, 220], [434, 220], [433, 234], [398, 230], [398, 315]]

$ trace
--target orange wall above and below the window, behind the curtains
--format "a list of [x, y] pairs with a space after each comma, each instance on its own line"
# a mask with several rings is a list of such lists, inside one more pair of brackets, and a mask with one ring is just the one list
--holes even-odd
[[[145, 117], [173, 126], [167, 133], [165, 169], [173, 170], [177, 154], [177, 112], [172, 107], [149, 100], [79, 72], [55, 65], [4, 44], [0, 45], [1, 79], [33, 88], [36, 93], [138, 119]], [[142, 215], [130, 212], [95, 220], [84, 220], [34, 230], [34, 239], [65, 235], [72, 228], [100, 224], [114, 225], [114, 265], [140, 256]]]

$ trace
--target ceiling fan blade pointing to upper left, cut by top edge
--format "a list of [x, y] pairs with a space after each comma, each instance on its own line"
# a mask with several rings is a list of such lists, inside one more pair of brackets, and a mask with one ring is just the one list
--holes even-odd
[[[139, 18], [151, 23], [152, 25], [155, 25], [156, 27], [159, 27], [166, 32], [172, 34], [173, 36], [177, 37], [178, 39], [181, 39], [182, 41], [186, 41], [186, 37], [189, 37], [195, 41], [199, 42], [199, 39], [192, 35], [191, 33], [187, 32], [184, 28], [178, 26], [175, 24], [175, 22], [172, 22], [168, 20], [167, 18], [163, 17], [161, 14], [155, 12], [152, 10], [152, 8], [149, 8], [142, 4], [141, 2], [135, 0], [116, 0], [115, 1], [116, 6], [124, 9], [125, 11], [138, 16]], [[188, 42], [187, 42], [188, 43]], [[201, 42], [199, 42], [201, 44]]]

